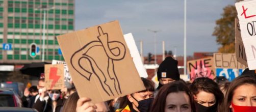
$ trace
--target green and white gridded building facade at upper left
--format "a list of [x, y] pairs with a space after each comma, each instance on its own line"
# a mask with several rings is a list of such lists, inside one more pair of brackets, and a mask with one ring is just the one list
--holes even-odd
[[[74, 0], [0, 0], [0, 60], [42, 60], [44, 13], [44, 60], [64, 60], [56, 36], [73, 32]], [[4, 50], [3, 43], [12, 44], [12, 49]], [[29, 54], [31, 43], [39, 49], [35, 58]]]

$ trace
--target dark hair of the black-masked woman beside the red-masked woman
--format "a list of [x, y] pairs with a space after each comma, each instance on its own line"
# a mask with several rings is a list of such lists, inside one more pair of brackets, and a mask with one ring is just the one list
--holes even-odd
[[199, 91], [212, 93], [215, 96], [216, 103], [218, 104], [218, 108], [222, 104], [224, 95], [221, 92], [218, 84], [210, 78], [207, 78], [207, 77], [196, 78], [190, 85], [189, 89], [191, 90], [193, 95], [197, 95]]

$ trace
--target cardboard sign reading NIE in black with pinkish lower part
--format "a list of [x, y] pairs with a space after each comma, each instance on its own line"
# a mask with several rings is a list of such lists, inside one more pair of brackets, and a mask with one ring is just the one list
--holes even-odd
[[187, 66], [191, 81], [198, 77], [208, 77], [211, 79], [216, 77], [215, 70], [213, 68], [213, 58], [188, 61]]

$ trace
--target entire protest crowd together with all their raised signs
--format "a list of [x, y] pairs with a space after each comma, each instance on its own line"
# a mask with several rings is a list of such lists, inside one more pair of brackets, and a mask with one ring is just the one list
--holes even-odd
[[[117, 20], [58, 35], [65, 62], [44, 64], [37, 85], [22, 92], [22, 107], [39, 112], [256, 112], [256, 13], [245, 14], [248, 8], [256, 10], [256, 1], [249, 2], [253, 5], [236, 4], [240, 12], [239, 20], [234, 20], [240, 23], [239, 28], [236, 25], [236, 39], [240, 40], [236, 41], [245, 50], [239, 46], [236, 53], [185, 60], [188, 81], [181, 77], [172, 55], [163, 56], [163, 62], [154, 68], [158, 84], [147, 74], [142, 76], [146, 70], [133, 36], [123, 35]], [[248, 5], [246, 9], [244, 5]], [[223, 69], [237, 69], [237, 74], [217, 76]], [[228, 79], [219, 80], [220, 76]]]

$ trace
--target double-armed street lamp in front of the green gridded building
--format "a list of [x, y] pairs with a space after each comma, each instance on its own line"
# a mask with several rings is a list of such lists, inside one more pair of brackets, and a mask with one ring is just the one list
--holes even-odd
[[54, 7], [51, 8], [36, 8], [36, 10], [43, 10], [43, 45], [42, 45], [42, 62], [44, 62], [44, 49], [45, 49], [45, 19], [46, 19], [46, 11], [52, 10]]

